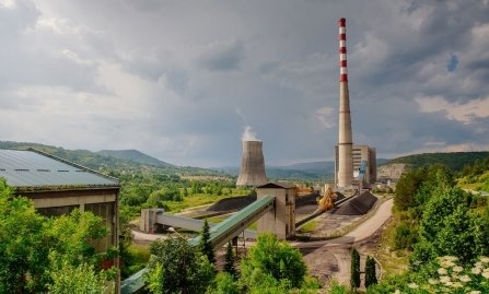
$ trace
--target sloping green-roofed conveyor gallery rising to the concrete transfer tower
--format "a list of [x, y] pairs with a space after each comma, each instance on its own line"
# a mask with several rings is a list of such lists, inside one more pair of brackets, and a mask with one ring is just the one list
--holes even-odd
[[[223, 222], [212, 226], [210, 228], [210, 242], [212, 243], [213, 248], [220, 248], [226, 244], [229, 239], [240, 235], [248, 225], [261, 217], [267, 211], [271, 210], [273, 204], [275, 197], [265, 196], [234, 213]], [[200, 236], [189, 239], [188, 243], [191, 246], [197, 246], [199, 240]], [[147, 269], [142, 269], [124, 280], [120, 283], [120, 293], [132, 294], [141, 290], [144, 286], [143, 275], [145, 271]]]

